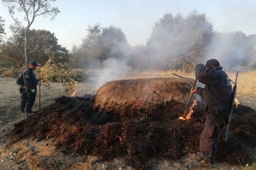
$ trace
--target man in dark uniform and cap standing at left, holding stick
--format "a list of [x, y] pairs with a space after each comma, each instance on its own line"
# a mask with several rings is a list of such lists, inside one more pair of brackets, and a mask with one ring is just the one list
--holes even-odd
[[[33, 70], [36, 70], [39, 65], [35, 61], [30, 61], [28, 68], [23, 72], [24, 86], [21, 92], [21, 112], [25, 114], [25, 108], [27, 115], [33, 114], [31, 110], [36, 100], [36, 86], [41, 85], [41, 82], [36, 78]], [[42, 81], [42, 80], [41, 80]]]

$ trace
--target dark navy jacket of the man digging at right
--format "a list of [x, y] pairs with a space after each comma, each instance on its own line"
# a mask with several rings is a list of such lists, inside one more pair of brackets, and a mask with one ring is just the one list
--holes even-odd
[[222, 67], [208, 70], [204, 65], [199, 64], [196, 66], [196, 78], [205, 84], [204, 88], [198, 87], [196, 93], [203, 98], [206, 109], [208, 106], [214, 108], [223, 106], [225, 110], [230, 108], [232, 87], [228, 75], [222, 71]]

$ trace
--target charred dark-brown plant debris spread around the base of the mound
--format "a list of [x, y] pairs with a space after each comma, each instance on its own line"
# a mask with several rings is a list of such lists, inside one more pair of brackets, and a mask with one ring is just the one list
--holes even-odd
[[[163, 93], [159, 92], [159, 95]], [[56, 139], [57, 150], [65, 154], [91, 154], [99, 160], [125, 157], [128, 165], [136, 169], [149, 169], [149, 160], [152, 159], [164, 157], [176, 160], [188, 153], [198, 152], [205, 119], [199, 107], [194, 109], [190, 120], [183, 121], [177, 118], [181, 116], [184, 105], [168, 112], [168, 118], [164, 114], [159, 114], [162, 118], [156, 118], [148, 110], [140, 109], [139, 105], [132, 111], [133, 115], [118, 114], [113, 109], [96, 109], [96, 97], [57, 98], [55, 103], [15, 124], [9, 134], [10, 144], [26, 138], [38, 141]], [[130, 99], [129, 96], [127, 99]], [[163, 101], [162, 105], [153, 104], [154, 107], [162, 110], [169, 105], [169, 99]], [[131, 111], [131, 108], [126, 107], [126, 111]], [[256, 111], [243, 105], [235, 108], [228, 142], [224, 142], [225, 131], [219, 134], [218, 161], [252, 163], [256, 158], [255, 129]]]

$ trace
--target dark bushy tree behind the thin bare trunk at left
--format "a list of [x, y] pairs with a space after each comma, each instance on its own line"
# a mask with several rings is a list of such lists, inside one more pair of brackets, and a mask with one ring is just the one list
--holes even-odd
[[[11, 27], [13, 36], [1, 46], [1, 56], [5, 61], [22, 65], [24, 61], [24, 34], [21, 29]], [[28, 33], [28, 59], [44, 64], [49, 59], [56, 63], [69, 62], [69, 51], [58, 44], [54, 33], [47, 30], [32, 29]]]

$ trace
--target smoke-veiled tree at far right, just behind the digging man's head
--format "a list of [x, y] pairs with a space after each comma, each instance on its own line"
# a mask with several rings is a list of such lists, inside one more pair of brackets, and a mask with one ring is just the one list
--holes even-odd
[[226, 69], [233, 66], [252, 64], [255, 47], [251, 39], [242, 31], [218, 33], [213, 36], [208, 56], [219, 60]]

